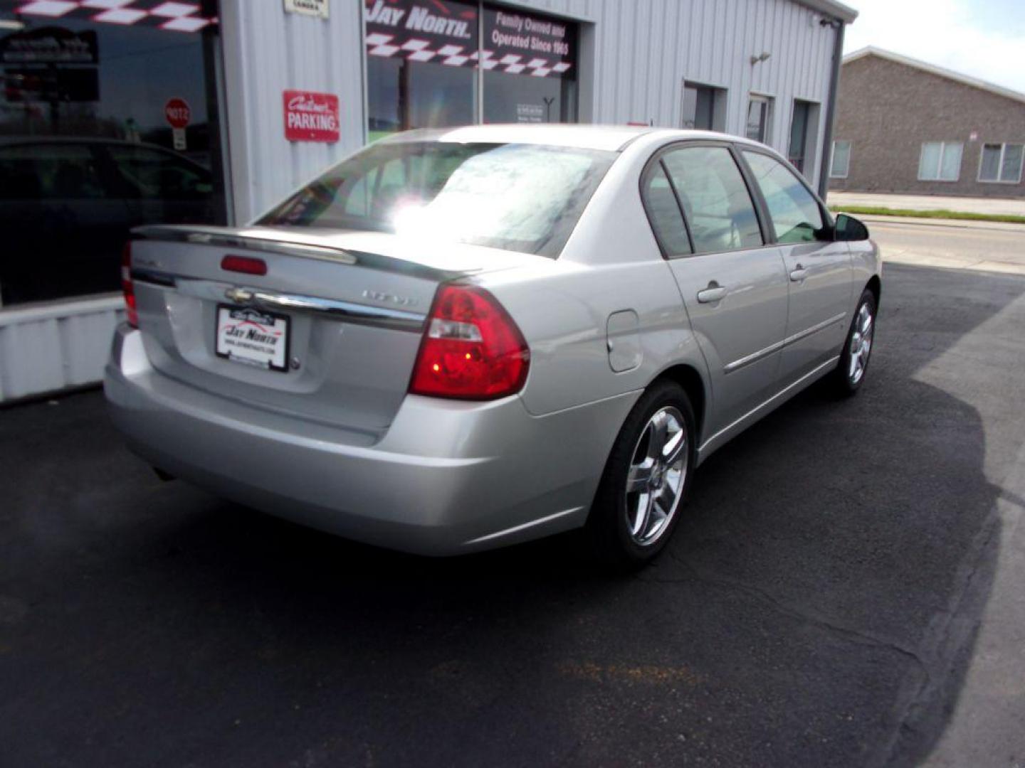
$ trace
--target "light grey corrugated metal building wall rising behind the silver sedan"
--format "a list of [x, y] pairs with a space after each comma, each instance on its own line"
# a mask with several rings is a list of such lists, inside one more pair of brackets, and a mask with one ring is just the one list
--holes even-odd
[[[794, 98], [819, 102], [824, 132], [834, 31], [794, 0], [516, 0], [512, 6], [593, 24], [593, 122], [678, 127], [685, 79], [728, 89], [727, 131], [743, 133], [747, 95], [775, 98], [771, 143], [786, 151]], [[230, 154], [240, 221], [364, 141], [362, 0], [332, 0], [328, 20], [277, 0], [221, 0]], [[751, 65], [750, 56], [772, 56]], [[338, 94], [337, 144], [289, 143], [287, 88]], [[821, 147], [816, 153], [821, 157]], [[809, 168], [814, 184], [818, 169]]]

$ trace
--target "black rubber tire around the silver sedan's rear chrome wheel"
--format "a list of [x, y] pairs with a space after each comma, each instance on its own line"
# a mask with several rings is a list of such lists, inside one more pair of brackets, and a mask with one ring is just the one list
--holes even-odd
[[[627, 522], [627, 474], [634, 453], [642, 450], [640, 441], [645, 438], [649, 422], [665, 409], [669, 410], [666, 413], [683, 417], [687, 440], [686, 464], [678, 501], [667, 516], [667, 522], [650, 543], [639, 544]], [[602, 564], [620, 571], [633, 570], [650, 563], [665, 548], [680, 522], [690, 489], [697, 459], [696, 443], [694, 409], [683, 387], [668, 380], [652, 384], [633, 406], [619, 430], [587, 517], [587, 538], [592, 553]], [[662, 473], [659, 474], [661, 477]], [[669, 474], [664, 476], [668, 478]]]

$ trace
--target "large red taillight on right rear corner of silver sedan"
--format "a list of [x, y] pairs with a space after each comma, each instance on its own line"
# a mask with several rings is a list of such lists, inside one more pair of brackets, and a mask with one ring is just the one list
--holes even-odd
[[471, 286], [442, 286], [409, 391], [490, 400], [519, 392], [529, 367], [527, 342], [494, 296]]

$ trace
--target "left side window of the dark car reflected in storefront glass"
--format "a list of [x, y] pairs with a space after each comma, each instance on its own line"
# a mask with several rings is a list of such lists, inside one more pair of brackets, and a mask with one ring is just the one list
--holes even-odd
[[106, 197], [88, 144], [39, 143], [0, 150], [0, 199], [99, 200]]

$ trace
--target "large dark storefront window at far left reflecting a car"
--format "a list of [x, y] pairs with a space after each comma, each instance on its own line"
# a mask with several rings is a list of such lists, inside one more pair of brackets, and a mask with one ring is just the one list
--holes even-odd
[[224, 222], [216, 8], [167, 26], [152, 4], [117, 5], [122, 23], [106, 5], [0, 0], [4, 306], [119, 290], [133, 226]]

